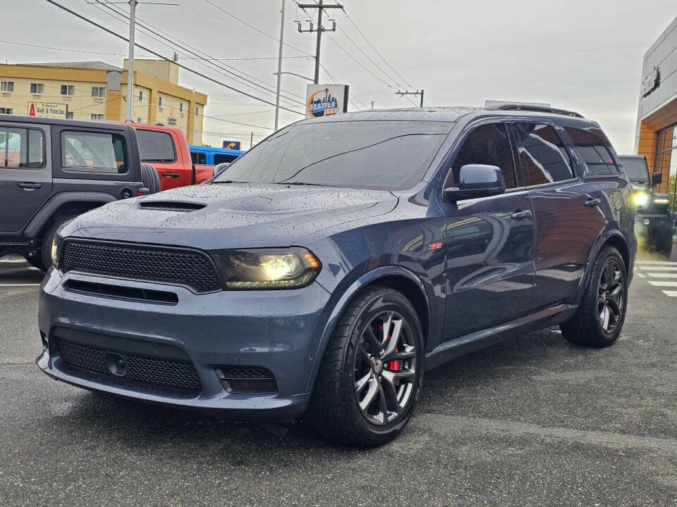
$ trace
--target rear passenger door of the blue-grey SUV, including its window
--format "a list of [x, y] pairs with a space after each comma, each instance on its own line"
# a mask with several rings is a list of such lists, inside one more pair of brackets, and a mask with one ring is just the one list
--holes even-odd
[[573, 301], [606, 218], [577, 174], [560, 127], [516, 123], [514, 132], [536, 219], [534, 306]]

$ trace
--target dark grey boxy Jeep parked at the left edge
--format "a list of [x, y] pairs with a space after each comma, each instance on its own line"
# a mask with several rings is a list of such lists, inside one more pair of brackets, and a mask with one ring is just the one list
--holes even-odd
[[152, 166], [142, 168], [133, 127], [1, 115], [0, 257], [19, 253], [44, 270], [61, 224], [158, 189], [156, 180]]

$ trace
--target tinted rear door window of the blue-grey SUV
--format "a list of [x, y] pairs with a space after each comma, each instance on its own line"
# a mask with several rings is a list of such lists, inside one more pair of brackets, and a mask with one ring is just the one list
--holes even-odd
[[516, 123], [520, 161], [528, 185], [554, 183], [573, 178], [571, 158], [550, 125]]

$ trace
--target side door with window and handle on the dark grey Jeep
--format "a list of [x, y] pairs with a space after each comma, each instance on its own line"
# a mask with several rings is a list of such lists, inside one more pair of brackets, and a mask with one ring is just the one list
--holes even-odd
[[49, 125], [0, 123], [0, 232], [20, 232], [51, 195]]

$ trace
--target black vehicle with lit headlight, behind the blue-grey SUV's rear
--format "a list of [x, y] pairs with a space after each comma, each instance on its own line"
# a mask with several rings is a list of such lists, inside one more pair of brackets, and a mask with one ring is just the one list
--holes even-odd
[[655, 248], [670, 256], [672, 236], [675, 231], [675, 217], [670, 211], [670, 200], [666, 194], [654, 194], [654, 186], [661, 184], [663, 175], [649, 175], [647, 158], [640, 155], [621, 155], [621, 163], [633, 184], [633, 205], [635, 232], [645, 246]]

